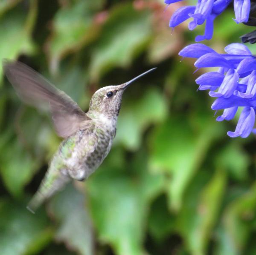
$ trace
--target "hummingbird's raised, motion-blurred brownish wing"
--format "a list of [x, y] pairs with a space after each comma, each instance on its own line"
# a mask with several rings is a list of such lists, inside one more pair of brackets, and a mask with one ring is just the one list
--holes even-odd
[[23, 101], [36, 107], [49, 105], [59, 136], [72, 135], [90, 120], [67, 94], [25, 64], [5, 60], [3, 70]]

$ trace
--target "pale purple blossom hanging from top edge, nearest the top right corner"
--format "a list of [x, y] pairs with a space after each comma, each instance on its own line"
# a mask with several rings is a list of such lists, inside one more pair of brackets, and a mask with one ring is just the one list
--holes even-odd
[[236, 23], [247, 22], [250, 14], [250, 0], [234, 0]]

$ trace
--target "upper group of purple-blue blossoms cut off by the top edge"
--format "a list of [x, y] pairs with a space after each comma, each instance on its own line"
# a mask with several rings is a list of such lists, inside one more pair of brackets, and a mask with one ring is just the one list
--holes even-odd
[[[166, 4], [179, 2], [180, 0], [165, 0]], [[169, 26], [174, 28], [183, 21], [192, 18], [189, 30], [205, 22], [204, 35], [195, 37], [195, 41], [210, 40], [213, 35], [213, 23], [215, 18], [221, 14], [232, 0], [198, 0], [196, 6], [183, 6], [172, 15]], [[234, 0], [234, 11], [236, 23], [247, 22], [250, 14], [250, 0]]]

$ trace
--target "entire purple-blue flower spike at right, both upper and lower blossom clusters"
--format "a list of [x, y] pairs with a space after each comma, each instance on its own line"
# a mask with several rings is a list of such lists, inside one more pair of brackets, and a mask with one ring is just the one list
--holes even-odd
[[[178, 1], [165, 0], [165, 3]], [[215, 18], [231, 2], [234, 3], [236, 23], [243, 22], [248, 26], [256, 26], [256, 18], [253, 17], [256, 3], [250, 0], [198, 0], [196, 6], [184, 6], [175, 11], [169, 26], [175, 27], [191, 19], [188, 26], [193, 30], [205, 23], [204, 34], [197, 35], [195, 41], [210, 40], [213, 36]], [[242, 41], [255, 43], [255, 38], [256, 30], [245, 34]], [[229, 131], [227, 134], [230, 137], [246, 138], [251, 132], [256, 134], [256, 129], [253, 129], [256, 111], [256, 55], [241, 43], [231, 43], [224, 50], [226, 54], [219, 54], [204, 44], [195, 43], [186, 46], [179, 55], [197, 58], [197, 70], [218, 68], [216, 72], [207, 72], [195, 80], [199, 85], [198, 90], [209, 90], [211, 97], [217, 97], [212, 103], [212, 110], [224, 110], [222, 115], [216, 118], [217, 121], [232, 120], [239, 107], [243, 107], [235, 132]]]

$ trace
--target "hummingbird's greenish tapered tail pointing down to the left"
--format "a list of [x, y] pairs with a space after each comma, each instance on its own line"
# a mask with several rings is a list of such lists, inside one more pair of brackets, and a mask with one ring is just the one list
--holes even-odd
[[38, 191], [29, 201], [26, 208], [30, 212], [35, 213], [36, 209], [38, 209], [45, 199], [51, 197], [56, 191], [62, 189], [70, 180], [70, 177], [64, 175], [61, 171], [57, 171], [57, 169], [49, 169], [44, 180], [41, 182]]

